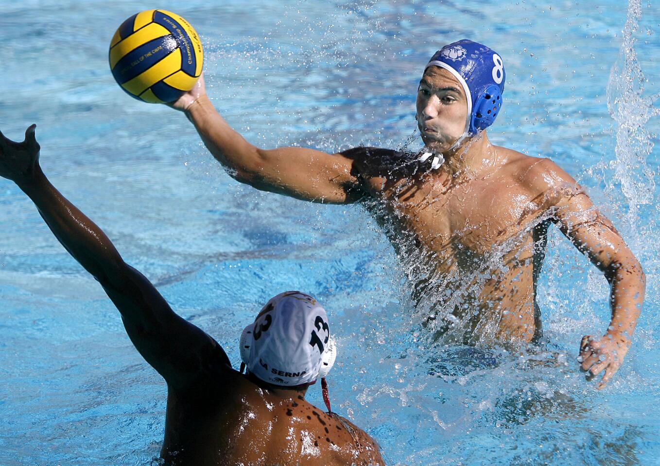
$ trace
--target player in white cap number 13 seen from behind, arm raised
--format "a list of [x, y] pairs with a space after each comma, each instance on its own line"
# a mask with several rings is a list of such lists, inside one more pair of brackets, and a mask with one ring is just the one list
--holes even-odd
[[[307, 401], [331, 368], [325, 310], [297, 291], [271, 299], [240, 339], [248, 373], [220, 345], [175, 314], [108, 237], [65, 199], [39, 165], [34, 125], [24, 142], [0, 133], [0, 176], [15, 181], [59, 242], [102, 285], [131, 341], [168, 385], [166, 465], [383, 465], [378, 446], [347, 419]], [[242, 371], [241, 371], [242, 372]], [[325, 382], [325, 379], [321, 379]]]

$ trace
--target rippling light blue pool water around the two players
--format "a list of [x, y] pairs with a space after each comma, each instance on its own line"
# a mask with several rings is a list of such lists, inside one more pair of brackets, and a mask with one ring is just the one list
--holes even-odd
[[[51, 181], [236, 366], [240, 330], [266, 299], [315, 295], [339, 339], [333, 404], [389, 464], [657, 464], [656, 3], [5, 2], [0, 129], [18, 139], [38, 124]], [[428, 57], [464, 37], [496, 49], [508, 83], [491, 140], [576, 177], [647, 274], [635, 343], [609, 388], [595, 391], [575, 362], [581, 335], [607, 327], [607, 283], [554, 227], [541, 347], [517, 357], [415, 342], [411, 262], [363, 206], [238, 185], [183, 115], [118, 88], [108, 42], [154, 6], [194, 24], [213, 102], [264, 147], [402, 146]], [[149, 465], [164, 383], [25, 196], [3, 181], [0, 204], [0, 464]], [[322, 404], [318, 392], [309, 398]]]

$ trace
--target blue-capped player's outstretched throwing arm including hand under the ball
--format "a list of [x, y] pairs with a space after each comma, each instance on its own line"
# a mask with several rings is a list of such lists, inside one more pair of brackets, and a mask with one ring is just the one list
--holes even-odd
[[264, 150], [246, 141], [213, 107], [203, 75], [171, 106], [185, 111], [211, 154], [242, 183], [329, 204], [347, 204], [362, 196], [353, 160], [345, 155], [299, 147]]

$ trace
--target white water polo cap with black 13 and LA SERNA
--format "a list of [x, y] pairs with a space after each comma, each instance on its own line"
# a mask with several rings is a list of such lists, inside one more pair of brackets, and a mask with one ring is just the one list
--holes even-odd
[[296, 386], [325, 377], [336, 350], [327, 314], [317, 301], [299, 291], [271, 298], [241, 335], [241, 359], [249, 371], [269, 384]]

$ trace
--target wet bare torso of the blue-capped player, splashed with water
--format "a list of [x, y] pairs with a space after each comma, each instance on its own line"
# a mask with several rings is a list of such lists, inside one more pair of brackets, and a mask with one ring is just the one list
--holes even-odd
[[[415, 173], [417, 165], [391, 151], [389, 161], [374, 153], [356, 159], [368, 189], [384, 201], [392, 243], [413, 271], [418, 308], [442, 320], [434, 322], [438, 335], [462, 323], [461, 343], [531, 341], [541, 330], [535, 277], [550, 203], [538, 188], [544, 159], [496, 150], [506, 163], [473, 177], [453, 178], [442, 168]], [[383, 166], [374, 167], [376, 160]]]

